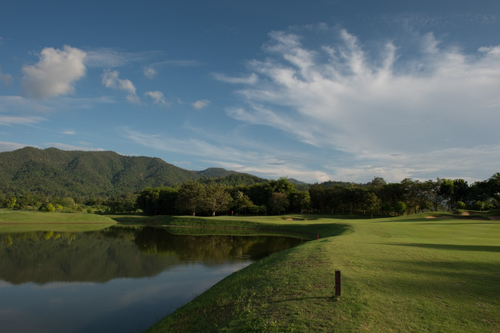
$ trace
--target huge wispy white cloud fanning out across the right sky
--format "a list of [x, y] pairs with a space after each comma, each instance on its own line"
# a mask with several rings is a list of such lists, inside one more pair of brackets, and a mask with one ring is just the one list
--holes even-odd
[[[466, 54], [427, 34], [407, 44], [384, 42], [377, 53], [373, 45], [366, 52], [345, 30], [337, 38], [308, 48], [298, 35], [272, 32], [264, 47], [270, 57], [249, 62], [259, 85], [239, 90], [246, 106], [226, 113], [280, 129], [325, 153], [348, 154], [349, 165], [330, 166], [334, 177], [348, 170], [367, 180], [377, 170], [391, 179], [445, 177], [458, 170], [440, 163], [436, 152], [451, 149], [459, 155], [453, 160], [463, 162], [471, 149], [499, 144], [500, 47]], [[391, 164], [395, 154], [406, 158]], [[500, 155], [490, 160], [498, 165]], [[483, 170], [489, 177], [495, 170], [492, 163], [490, 172], [480, 164], [465, 165], [470, 175]]]

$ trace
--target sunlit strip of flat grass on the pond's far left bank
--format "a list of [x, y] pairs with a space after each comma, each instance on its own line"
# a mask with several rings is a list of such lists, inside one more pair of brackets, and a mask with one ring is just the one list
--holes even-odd
[[116, 224], [109, 217], [85, 213], [47, 213], [0, 209], [0, 233], [91, 231]]

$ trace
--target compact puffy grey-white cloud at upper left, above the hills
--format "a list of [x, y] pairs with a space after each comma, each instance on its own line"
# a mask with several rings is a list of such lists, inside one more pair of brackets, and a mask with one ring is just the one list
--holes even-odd
[[24, 95], [43, 99], [74, 93], [74, 82], [85, 76], [85, 57], [84, 51], [67, 45], [44, 48], [36, 65], [22, 68]]

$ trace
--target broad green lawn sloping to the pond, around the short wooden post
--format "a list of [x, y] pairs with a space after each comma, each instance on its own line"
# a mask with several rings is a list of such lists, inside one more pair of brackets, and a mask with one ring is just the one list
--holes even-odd
[[[149, 332], [500, 331], [500, 221], [251, 222], [300, 225], [322, 237], [346, 230], [336, 224], [352, 232], [236, 272]], [[335, 269], [342, 271], [338, 299]]]

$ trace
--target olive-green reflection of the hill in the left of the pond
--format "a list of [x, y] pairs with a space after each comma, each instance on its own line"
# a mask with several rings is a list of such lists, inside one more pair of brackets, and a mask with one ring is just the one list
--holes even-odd
[[142, 254], [131, 239], [86, 233], [29, 232], [12, 234], [0, 251], [0, 279], [13, 284], [54, 281], [106, 282], [144, 277], [178, 264], [175, 257]]

